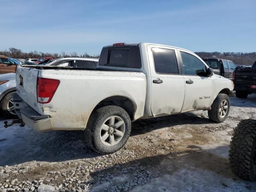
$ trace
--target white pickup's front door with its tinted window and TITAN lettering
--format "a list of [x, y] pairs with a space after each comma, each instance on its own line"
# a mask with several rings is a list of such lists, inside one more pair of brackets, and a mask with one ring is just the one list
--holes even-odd
[[182, 112], [208, 109], [214, 95], [214, 81], [206, 76], [206, 65], [192, 52], [178, 50], [185, 81]]

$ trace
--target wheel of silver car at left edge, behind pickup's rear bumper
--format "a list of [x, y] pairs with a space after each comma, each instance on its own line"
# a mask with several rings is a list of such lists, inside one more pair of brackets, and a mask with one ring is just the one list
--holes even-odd
[[0, 102], [0, 113], [7, 118], [16, 118], [16, 113], [12, 103], [12, 93], [6, 94]]

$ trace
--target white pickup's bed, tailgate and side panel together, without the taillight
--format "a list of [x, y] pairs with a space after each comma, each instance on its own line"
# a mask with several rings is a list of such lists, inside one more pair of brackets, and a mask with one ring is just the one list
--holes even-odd
[[[60, 80], [48, 104], [37, 101], [38, 78]], [[19, 66], [16, 82], [20, 98], [38, 114], [49, 115], [54, 130], [84, 130], [94, 107], [110, 96], [134, 101], [134, 120], [144, 114], [146, 75], [142, 72]]]

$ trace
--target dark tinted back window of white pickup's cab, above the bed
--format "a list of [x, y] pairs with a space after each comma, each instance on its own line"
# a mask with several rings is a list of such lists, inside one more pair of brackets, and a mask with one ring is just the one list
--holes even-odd
[[135, 45], [105, 47], [100, 54], [98, 65], [140, 69], [140, 48]]

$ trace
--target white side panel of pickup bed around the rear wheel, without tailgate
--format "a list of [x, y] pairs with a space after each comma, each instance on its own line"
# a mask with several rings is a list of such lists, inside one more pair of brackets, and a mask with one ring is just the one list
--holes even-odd
[[54, 130], [84, 130], [95, 106], [110, 96], [125, 96], [143, 116], [146, 76], [140, 72], [41, 70], [39, 77], [60, 80], [52, 101], [39, 104], [40, 114], [50, 115]]

